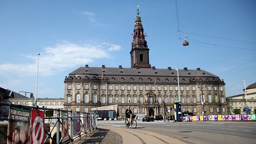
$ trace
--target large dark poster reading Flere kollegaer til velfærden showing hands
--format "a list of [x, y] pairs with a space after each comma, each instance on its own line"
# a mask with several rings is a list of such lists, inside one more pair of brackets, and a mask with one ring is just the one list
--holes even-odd
[[30, 144], [30, 109], [10, 105], [7, 144]]

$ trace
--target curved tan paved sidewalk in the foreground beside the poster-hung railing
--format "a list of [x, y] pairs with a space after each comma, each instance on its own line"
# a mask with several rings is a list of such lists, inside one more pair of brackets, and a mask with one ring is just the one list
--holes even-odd
[[97, 130], [73, 141], [72, 144], [187, 144], [188, 141], [132, 128], [99, 126]]

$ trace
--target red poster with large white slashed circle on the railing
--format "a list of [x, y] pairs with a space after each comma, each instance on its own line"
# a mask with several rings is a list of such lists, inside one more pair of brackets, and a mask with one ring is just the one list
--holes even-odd
[[44, 144], [44, 111], [31, 110], [31, 144]]

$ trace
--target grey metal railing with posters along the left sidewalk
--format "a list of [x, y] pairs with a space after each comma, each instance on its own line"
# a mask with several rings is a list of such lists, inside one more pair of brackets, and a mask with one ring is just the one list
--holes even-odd
[[[29, 108], [30, 110], [34, 109], [34, 110], [50, 110], [50, 111], [56, 111], [56, 116], [55, 117], [45, 117], [45, 120], [48, 120], [50, 122], [49, 124], [49, 131], [47, 131], [44, 128], [44, 133], [46, 134], [45, 139], [44, 139], [44, 144], [47, 143], [48, 139], [51, 140], [52, 144], [66, 144], [66, 143], [70, 143], [73, 140], [75, 140], [78, 137], [81, 137], [82, 135], [86, 135], [88, 132], [91, 132], [91, 130], [94, 130], [97, 128], [97, 118], [96, 118], [96, 113], [93, 111], [92, 113], [84, 113], [84, 112], [76, 112], [76, 113], [80, 113], [80, 132], [79, 135], [77, 136], [73, 136], [73, 123], [74, 121], [74, 117], [73, 116], [73, 111], [68, 111], [68, 126], [69, 126], [69, 136], [68, 136], [68, 140], [66, 141], [62, 141], [62, 136], [61, 136], [61, 114], [62, 112], [67, 112], [67, 110], [60, 110], [60, 109], [52, 109], [52, 108], [39, 108], [39, 107], [31, 107], [31, 106], [24, 106], [24, 105], [16, 105], [16, 104], [7, 104], [7, 103], [0, 103], [0, 106], [9, 106], [9, 108], [11, 108], [11, 106], [18, 106], [21, 108]], [[31, 118], [31, 116], [30, 116]], [[4, 121], [7, 120], [9, 121], [8, 117], [2, 117], [0, 118], [0, 121]], [[76, 120], [77, 122], [77, 120]], [[8, 122], [9, 124], [9, 122]], [[31, 125], [31, 124], [30, 124]], [[79, 127], [79, 125], [77, 125]], [[86, 126], [86, 127], [85, 127]], [[62, 128], [61, 128], [62, 129]], [[54, 138], [55, 133], [54, 130], [56, 130], [56, 139]], [[62, 129], [63, 130], [63, 129]], [[4, 138], [6, 138], [6, 140], [8, 139], [8, 134], [4, 131], [2, 131], [0, 129], [0, 135], [3, 135]]]

